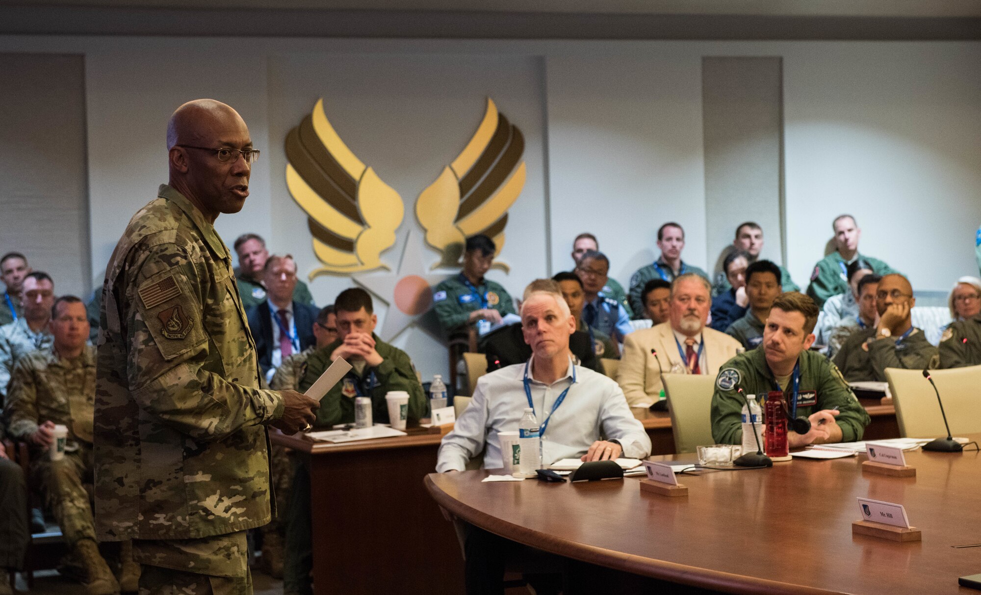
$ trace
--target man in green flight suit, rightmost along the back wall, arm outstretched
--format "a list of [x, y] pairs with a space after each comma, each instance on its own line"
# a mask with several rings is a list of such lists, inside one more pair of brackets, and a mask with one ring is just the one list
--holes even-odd
[[807, 286], [807, 295], [814, 299], [818, 307], [823, 306], [828, 298], [849, 291], [848, 265], [859, 258], [868, 262], [876, 275], [899, 272], [882, 260], [858, 253], [861, 230], [852, 215], [839, 215], [831, 227], [835, 231], [835, 251], [818, 261]]

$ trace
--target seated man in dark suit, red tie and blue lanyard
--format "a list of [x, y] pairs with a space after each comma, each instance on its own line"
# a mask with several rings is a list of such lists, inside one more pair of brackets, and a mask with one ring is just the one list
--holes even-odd
[[293, 299], [296, 263], [292, 256], [267, 258], [262, 280], [266, 298], [247, 312], [259, 366], [268, 382], [286, 357], [315, 343], [317, 308]]

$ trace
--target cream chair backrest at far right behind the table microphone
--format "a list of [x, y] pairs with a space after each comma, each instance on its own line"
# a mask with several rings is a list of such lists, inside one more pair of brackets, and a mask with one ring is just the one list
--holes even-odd
[[[932, 370], [944, 411], [955, 436], [981, 432], [981, 365]], [[904, 438], [947, 436], [937, 394], [921, 370], [886, 368], [889, 390], [896, 406], [896, 420]]]

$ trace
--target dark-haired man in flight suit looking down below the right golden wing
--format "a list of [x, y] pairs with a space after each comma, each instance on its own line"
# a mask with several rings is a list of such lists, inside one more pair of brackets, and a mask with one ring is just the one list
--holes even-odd
[[490, 238], [483, 234], [467, 238], [463, 270], [436, 286], [433, 308], [447, 335], [474, 326], [480, 335], [484, 335], [504, 314], [515, 313], [511, 296], [504, 288], [484, 278], [490, 271], [496, 249]]

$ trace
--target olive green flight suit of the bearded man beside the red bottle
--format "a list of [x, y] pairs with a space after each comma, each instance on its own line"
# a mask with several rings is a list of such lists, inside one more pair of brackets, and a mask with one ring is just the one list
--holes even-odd
[[[861, 440], [870, 418], [835, 364], [818, 352], [800, 352], [798, 362], [797, 415], [807, 417], [815, 411], [838, 407], [840, 413], [835, 420], [842, 428], [842, 442]], [[743, 399], [736, 389], [742, 387], [747, 395], [756, 395], [762, 406], [766, 394], [774, 390], [773, 382], [764, 350], [740, 353], [719, 368], [711, 407], [712, 438], [717, 444], [740, 444], [743, 440]], [[791, 392], [786, 394], [789, 397]]]

